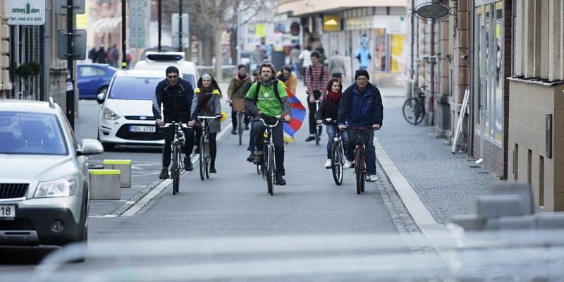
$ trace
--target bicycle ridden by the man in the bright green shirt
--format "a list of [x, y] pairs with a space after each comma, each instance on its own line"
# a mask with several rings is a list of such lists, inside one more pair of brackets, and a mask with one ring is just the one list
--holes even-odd
[[[274, 195], [274, 182], [276, 181], [276, 157], [274, 155], [274, 139], [272, 137], [272, 128], [278, 126], [281, 121], [281, 116], [276, 116], [276, 123], [268, 125], [263, 118], [259, 118], [262, 124], [266, 127], [264, 133], [264, 146], [262, 147], [263, 162], [259, 165], [259, 170], [262, 171], [262, 177], [266, 180], [267, 192], [272, 196]], [[266, 153], [266, 154], [265, 154]]]

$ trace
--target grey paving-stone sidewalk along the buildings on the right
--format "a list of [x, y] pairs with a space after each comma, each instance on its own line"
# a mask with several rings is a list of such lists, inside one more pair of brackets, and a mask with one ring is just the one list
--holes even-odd
[[436, 221], [476, 212], [477, 197], [500, 180], [482, 166], [471, 168], [477, 165], [466, 154], [451, 154], [448, 140], [436, 138], [433, 127], [407, 123], [403, 98], [383, 100], [384, 125], [376, 137]]

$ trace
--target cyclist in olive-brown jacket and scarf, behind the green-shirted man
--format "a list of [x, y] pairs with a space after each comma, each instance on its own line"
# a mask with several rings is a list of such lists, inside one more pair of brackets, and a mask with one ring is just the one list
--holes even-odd
[[[245, 98], [245, 94], [247, 94], [251, 86], [251, 78], [247, 75], [247, 66], [240, 64], [237, 69], [237, 73], [233, 75], [233, 78], [231, 78], [229, 82], [229, 87], [227, 88], [227, 96], [231, 104], [231, 121], [233, 123], [231, 134], [237, 134], [237, 111], [245, 110], [243, 98]], [[249, 118], [245, 116], [245, 130], [248, 129]]]

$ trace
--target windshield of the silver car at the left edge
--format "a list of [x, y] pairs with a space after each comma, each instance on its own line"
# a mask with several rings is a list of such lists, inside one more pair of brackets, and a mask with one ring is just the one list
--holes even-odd
[[0, 140], [0, 154], [68, 154], [54, 114], [0, 112]]

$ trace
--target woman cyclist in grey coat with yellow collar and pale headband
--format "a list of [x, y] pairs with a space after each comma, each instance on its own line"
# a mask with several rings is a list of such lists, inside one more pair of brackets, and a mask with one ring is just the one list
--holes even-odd
[[[192, 102], [192, 121], [188, 122], [189, 126], [194, 126], [197, 123], [198, 116], [216, 116], [214, 120], [208, 120], [209, 129], [209, 156], [212, 157], [212, 162], [209, 165], [209, 173], [216, 173], [216, 137], [217, 133], [221, 131], [221, 90], [219, 85], [212, 75], [206, 73], [197, 82], [197, 88], [194, 91], [194, 102]], [[202, 130], [196, 131], [195, 138], [186, 140], [187, 152], [192, 153], [194, 142], [200, 140]], [[200, 148], [201, 150], [202, 148]]]

